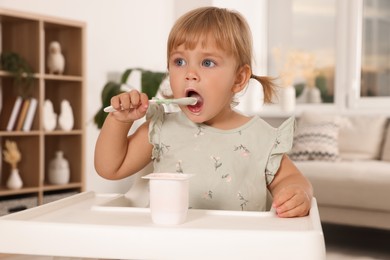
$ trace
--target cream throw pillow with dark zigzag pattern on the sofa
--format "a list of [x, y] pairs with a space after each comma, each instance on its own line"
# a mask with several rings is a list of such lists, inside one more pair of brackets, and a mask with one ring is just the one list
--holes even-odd
[[295, 161], [338, 160], [339, 127], [338, 116], [303, 113], [294, 133], [290, 158]]

